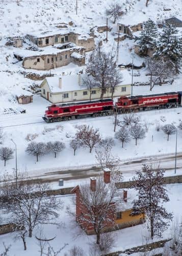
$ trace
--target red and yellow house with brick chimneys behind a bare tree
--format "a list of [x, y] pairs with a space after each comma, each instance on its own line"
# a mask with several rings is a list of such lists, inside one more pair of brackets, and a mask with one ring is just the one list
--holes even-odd
[[[111, 172], [110, 170], [104, 170], [104, 175], [103, 175], [103, 182], [105, 183], [110, 183], [111, 179]], [[92, 191], [95, 191], [96, 189], [96, 178], [91, 177], [90, 178], [90, 189]], [[79, 185], [74, 187], [72, 189], [72, 193], [76, 194], [76, 221], [79, 222], [78, 220], [80, 217], [84, 214], [86, 215], [87, 213], [87, 208], [82, 202], [82, 195], [80, 191]], [[112, 202], [112, 204], [115, 202]], [[116, 205], [117, 206], [117, 205]], [[133, 214], [132, 207], [130, 203], [128, 203], [127, 200], [127, 190], [123, 190], [123, 203], [121, 208], [118, 208], [118, 211], [113, 215], [112, 212], [108, 214], [108, 218], [110, 218], [112, 221], [114, 221], [115, 225], [111, 225], [112, 221], [109, 221], [108, 224], [106, 223], [106, 228], [105, 231], [111, 231], [111, 230], [116, 230], [116, 229], [121, 229], [121, 228], [126, 228], [126, 227], [131, 227], [135, 225], [139, 225], [145, 222], [145, 214]], [[85, 229], [87, 234], [94, 234], [94, 229], [92, 224], [84, 223], [84, 222], [79, 222], [82, 228]]]

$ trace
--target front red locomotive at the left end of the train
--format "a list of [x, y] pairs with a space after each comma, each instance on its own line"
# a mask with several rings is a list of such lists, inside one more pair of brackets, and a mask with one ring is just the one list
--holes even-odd
[[43, 120], [47, 123], [83, 117], [112, 115], [114, 104], [112, 99], [74, 102], [48, 106]]

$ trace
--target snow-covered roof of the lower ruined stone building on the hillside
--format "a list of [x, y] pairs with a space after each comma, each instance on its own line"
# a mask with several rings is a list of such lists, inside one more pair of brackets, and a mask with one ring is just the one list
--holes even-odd
[[85, 49], [82, 46], [74, 46], [67, 49], [57, 49], [56, 47], [53, 47], [53, 46], [46, 46], [43, 49], [41, 48], [41, 50], [39, 51], [31, 51], [31, 50], [24, 50], [24, 49], [18, 48], [14, 51], [14, 54], [21, 56], [22, 58], [25, 58], [25, 57], [33, 57], [33, 56], [41, 56], [41, 55], [54, 55], [54, 54], [56, 55], [57, 53], [66, 52], [71, 49], [79, 50], [81, 48]]

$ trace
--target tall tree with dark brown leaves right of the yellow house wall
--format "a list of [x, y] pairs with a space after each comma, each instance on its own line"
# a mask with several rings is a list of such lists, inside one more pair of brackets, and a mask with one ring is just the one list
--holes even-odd
[[161, 236], [169, 225], [172, 215], [163, 204], [169, 201], [164, 184], [164, 169], [160, 166], [144, 164], [142, 170], [136, 171], [133, 188], [137, 190], [138, 199], [134, 200], [134, 213], [145, 212], [149, 219], [150, 237]]

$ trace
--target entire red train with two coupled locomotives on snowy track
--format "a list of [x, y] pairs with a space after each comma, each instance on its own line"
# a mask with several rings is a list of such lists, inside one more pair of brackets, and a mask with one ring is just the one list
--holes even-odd
[[121, 96], [114, 105], [112, 99], [63, 103], [48, 106], [43, 119], [47, 122], [79, 119], [84, 117], [106, 116], [118, 113], [137, 112], [151, 109], [176, 108], [182, 103], [182, 92]]

